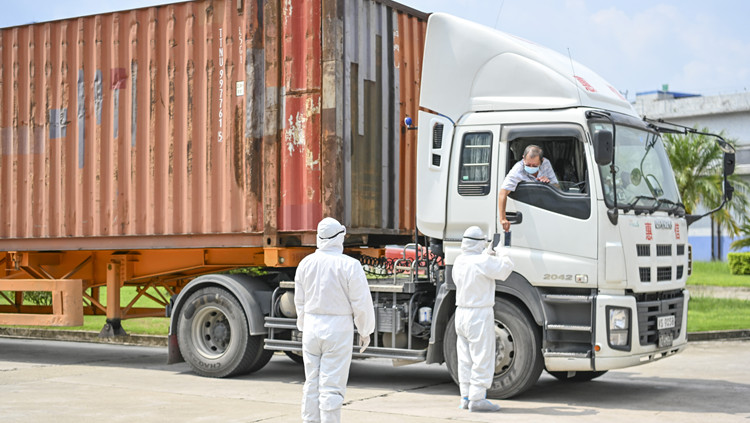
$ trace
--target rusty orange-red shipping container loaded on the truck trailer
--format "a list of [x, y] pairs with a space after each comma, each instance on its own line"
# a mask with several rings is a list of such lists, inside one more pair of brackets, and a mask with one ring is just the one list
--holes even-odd
[[0, 250], [413, 233], [425, 28], [386, 0], [206, 0], [1, 29]]

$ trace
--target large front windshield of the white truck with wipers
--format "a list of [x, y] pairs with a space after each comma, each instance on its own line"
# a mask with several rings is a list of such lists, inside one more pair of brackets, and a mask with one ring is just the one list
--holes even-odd
[[[610, 123], [595, 122], [591, 131], [612, 131]], [[614, 206], [610, 166], [600, 166], [604, 200]], [[617, 125], [615, 133], [615, 183], [617, 207], [635, 212], [657, 210], [684, 213], [672, 166], [658, 134]]]

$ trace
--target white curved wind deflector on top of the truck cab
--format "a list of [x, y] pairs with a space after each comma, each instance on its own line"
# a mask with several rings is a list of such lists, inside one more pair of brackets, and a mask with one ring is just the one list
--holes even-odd
[[420, 106], [467, 112], [588, 106], [637, 116], [595, 72], [556, 51], [444, 13], [427, 24]]

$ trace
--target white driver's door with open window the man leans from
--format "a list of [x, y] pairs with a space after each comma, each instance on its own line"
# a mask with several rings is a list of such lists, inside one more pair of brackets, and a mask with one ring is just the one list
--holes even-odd
[[522, 182], [507, 202], [506, 212], [523, 214], [523, 222], [511, 226], [515, 270], [535, 285], [596, 285], [594, 170], [585, 140], [583, 129], [572, 124], [503, 126], [500, 146], [507, 159], [499, 185], [530, 144], [542, 148], [559, 181]]

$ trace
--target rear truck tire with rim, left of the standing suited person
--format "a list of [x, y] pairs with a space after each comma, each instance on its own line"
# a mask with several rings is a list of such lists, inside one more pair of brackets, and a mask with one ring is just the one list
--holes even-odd
[[273, 351], [263, 336], [250, 336], [247, 316], [236, 298], [219, 287], [199, 289], [180, 310], [180, 352], [201, 376], [231, 377], [265, 366]]

